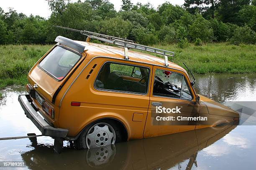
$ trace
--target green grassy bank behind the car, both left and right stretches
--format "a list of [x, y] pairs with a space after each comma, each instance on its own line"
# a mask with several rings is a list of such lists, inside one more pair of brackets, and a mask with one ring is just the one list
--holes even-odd
[[[153, 45], [175, 52], [174, 63], [185, 62], [192, 72], [204, 74], [256, 72], [256, 45], [209, 43], [181, 49], [177, 45]], [[26, 84], [26, 75], [35, 62], [52, 45], [0, 45], [0, 89], [13, 84]]]

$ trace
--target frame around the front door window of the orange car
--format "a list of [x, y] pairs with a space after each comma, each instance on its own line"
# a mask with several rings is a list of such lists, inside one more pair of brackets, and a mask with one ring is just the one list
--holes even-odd
[[[177, 100], [193, 101], [194, 97], [193, 97], [193, 95], [192, 95], [191, 89], [190, 89], [190, 87], [189, 87], [189, 85], [188, 85], [188, 83], [187, 83], [187, 79], [186, 79], [186, 77], [184, 76], [184, 74], [182, 74], [182, 73], [180, 73], [180, 72], [171, 71], [171, 70], [164, 70], [164, 69], [162, 69], [162, 68], [156, 68], [156, 69], [154, 70], [154, 76], [155, 76], [155, 72], [156, 72], [157, 69], [158, 69], [158, 70], [163, 70], [163, 71], [170, 71], [170, 72], [174, 72], [174, 73], [177, 73], [177, 74], [181, 74], [181, 75], [182, 75], [182, 86], [183, 86], [183, 80], [185, 80], [185, 82], [186, 82], [186, 84], [187, 84], [187, 87], [188, 87], [188, 89], [189, 89], [190, 95], [191, 95], [191, 100], [187, 100], [187, 99], [182, 99], [182, 98], [181, 98], [181, 97], [182, 97], [182, 87], [181, 87], [181, 92], [180, 92], [180, 97], [179, 97], [179, 98], [167, 97], [167, 96], [160, 96], [160, 95], [153, 95], [153, 90], [152, 90], [152, 96], [154, 96], [154, 97], [169, 98], [169, 99], [177, 99]], [[154, 88], [155, 77], [152, 77], [152, 80], [151, 80], [151, 81], [153, 81], [153, 87], [152, 87], [152, 88]]]

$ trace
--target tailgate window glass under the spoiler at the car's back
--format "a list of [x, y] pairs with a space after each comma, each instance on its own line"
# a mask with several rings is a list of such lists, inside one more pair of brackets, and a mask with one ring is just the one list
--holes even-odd
[[79, 59], [80, 55], [63, 47], [56, 46], [39, 63], [39, 67], [48, 72], [51, 76], [55, 77], [57, 80], [62, 80]]

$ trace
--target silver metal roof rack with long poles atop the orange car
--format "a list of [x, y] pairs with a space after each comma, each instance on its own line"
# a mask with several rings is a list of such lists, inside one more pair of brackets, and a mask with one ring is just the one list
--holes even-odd
[[120, 47], [124, 47], [125, 48], [125, 60], [129, 59], [128, 48], [132, 48], [135, 50], [143, 50], [143, 51], [147, 51], [147, 52], [154, 52], [156, 54], [163, 55], [165, 67], [168, 67], [168, 56], [174, 57], [174, 52], [172, 52], [172, 51], [167, 51], [167, 50], [162, 50], [162, 49], [158, 49], [158, 48], [148, 47], [146, 45], [136, 44], [132, 40], [127, 40], [127, 39], [119, 38], [119, 37], [113, 37], [113, 36], [104, 35], [104, 34], [100, 34], [100, 33], [96, 33], [96, 32], [90, 32], [90, 31], [86, 31], [86, 30], [76, 30], [76, 29], [61, 27], [61, 26], [57, 26], [57, 25], [53, 25], [53, 26], [57, 27], [57, 28], [80, 32], [81, 35], [87, 36], [86, 42], [89, 42], [90, 39], [93, 38], [93, 39], [107, 42], [107, 43], [110, 43], [113, 45], [118, 45]]

